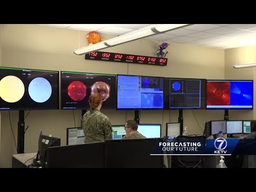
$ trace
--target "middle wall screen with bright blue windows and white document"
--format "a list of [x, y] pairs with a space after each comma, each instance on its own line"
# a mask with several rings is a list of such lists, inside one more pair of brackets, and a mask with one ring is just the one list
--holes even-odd
[[117, 75], [117, 109], [163, 109], [164, 78]]

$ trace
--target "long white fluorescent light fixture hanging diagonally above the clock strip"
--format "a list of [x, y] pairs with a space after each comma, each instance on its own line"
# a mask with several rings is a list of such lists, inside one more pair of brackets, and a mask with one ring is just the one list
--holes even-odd
[[74, 53], [78, 55], [86, 54], [92, 51], [104, 49], [106, 47], [111, 47], [111, 46], [119, 45], [122, 43], [131, 42], [131, 41], [148, 37], [151, 35], [165, 33], [166, 31], [189, 26], [189, 25], [193, 25], [193, 24], [155, 24], [155, 25], [151, 25], [151, 26], [136, 30], [136, 31], [132, 31], [125, 35], [108, 39], [106, 41], [103, 41], [97, 44], [93, 44], [93, 45], [83, 47], [81, 49], [77, 49], [74, 51]]

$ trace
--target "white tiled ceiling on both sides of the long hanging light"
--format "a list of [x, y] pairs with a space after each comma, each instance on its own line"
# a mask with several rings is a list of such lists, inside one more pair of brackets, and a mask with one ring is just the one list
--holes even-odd
[[[123, 35], [152, 24], [37, 24], [74, 30]], [[256, 24], [194, 24], [146, 37], [167, 43], [180, 43], [229, 49], [256, 44]], [[103, 41], [106, 39], [103, 39]]]

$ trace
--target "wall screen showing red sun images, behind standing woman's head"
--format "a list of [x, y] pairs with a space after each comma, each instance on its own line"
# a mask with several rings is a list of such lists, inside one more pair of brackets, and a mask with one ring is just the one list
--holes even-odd
[[116, 108], [116, 75], [61, 71], [61, 109], [89, 109], [89, 97], [99, 93], [101, 109]]

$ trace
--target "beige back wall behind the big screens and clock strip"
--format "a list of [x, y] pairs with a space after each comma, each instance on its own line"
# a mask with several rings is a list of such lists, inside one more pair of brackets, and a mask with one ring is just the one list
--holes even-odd
[[[127, 74], [127, 63], [85, 60], [84, 55], [73, 51], [87, 45], [86, 31], [51, 28], [37, 25], [3, 25], [2, 65], [19, 68], [48, 70], [83, 71], [88, 73]], [[111, 35], [101, 35], [103, 40]], [[162, 42], [139, 39], [130, 43], [105, 49], [108, 52], [156, 56]], [[170, 44], [167, 66], [147, 66], [130, 64], [129, 74], [185, 78], [225, 78], [225, 51], [210, 47]], [[103, 50], [102, 50], [103, 51]], [[188, 133], [202, 133], [206, 121], [223, 119], [223, 110], [183, 111], [184, 125]], [[25, 111], [25, 115], [28, 111]], [[126, 111], [102, 110], [111, 123], [124, 124]], [[18, 111], [11, 111], [11, 123], [17, 141]], [[163, 123], [162, 136], [167, 122], [178, 122], [178, 110], [141, 110], [140, 123]], [[127, 111], [127, 119], [134, 118], [134, 111]], [[170, 119], [170, 120], [169, 120]], [[81, 120], [81, 110], [75, 110], [76, 125]], [[29, 129], [25, 135], [25, 153], [37, 150], [38, 135], [52, 134], [61, 138], [66, 145], [66, 128], [74, 127], [71, 110], [34, 110], [27, 116]], [[2, 112], [0, 167], [11, 167], [11, 157], [15, 154], [14, 139], [8, 111]], [[202, 131], [201, 131], [202, 130]]]

